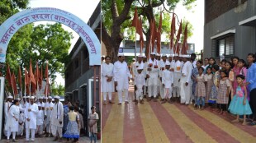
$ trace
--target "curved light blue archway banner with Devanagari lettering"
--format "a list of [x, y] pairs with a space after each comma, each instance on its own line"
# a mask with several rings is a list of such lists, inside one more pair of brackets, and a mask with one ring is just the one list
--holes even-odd
[[89, 65], [101, 65], [101, 44], [91, 27], [78, 16], [54, 7], [37, 7], [18, 12], [0, 25], [0, 62], [6, 61], [7, 46], [17, 30], [36, 21], [55, 21], [69, 26], [86, 44]]

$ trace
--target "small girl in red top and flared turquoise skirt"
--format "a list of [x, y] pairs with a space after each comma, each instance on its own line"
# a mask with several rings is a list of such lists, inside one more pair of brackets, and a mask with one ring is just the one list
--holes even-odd
[[252, 110], [247, 100], [246, 86], [243, 85], [244, 76], [236, 76], [236, 81], [238, 86], [235, 91], [235, 96], [231, 100], [229, 110], [230, 113], [236, 114], [236, 119], [232, 122], [239, 122], [239, 115], [244, 115], [243, 125], [246, 125], [246, 115], [252, 114]]

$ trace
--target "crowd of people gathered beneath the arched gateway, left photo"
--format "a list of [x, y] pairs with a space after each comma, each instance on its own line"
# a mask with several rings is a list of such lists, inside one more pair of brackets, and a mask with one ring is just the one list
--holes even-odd
[[[69, 100], [64, 104], [59, 101], [59, 96], [52, 98], [39, 97], [36, 102], [35, 96], [23, 96], [21, 99], [13, 99], [12, 95], [7, 96], [4, 105], [4, 135], [7, 136], [7, 142], [16, 141], [17, 136], [23, 136], [26, 131], [26, 141], [35, 141], [35, 135], [38, 137], [53, 137], [54, 141], [62, 141], [62, 137], [68, 141], [73, 139], [77, 142], [80, 131], [83, 129], [83, 110], [79, 104], [72, 105]], [[97, 127], [98, 116], [95, 115], [95, 107], [92, 107], [92, 113], [89, 116], [89, 128]], [[92, 116], [93, 115], [93, 116]], [[96, 118], [95, 118], [96, 117]], [[31, 137], [30, 137], [31, 135]], [[94, 135], [94, 134], [93, 134]], [[96, 139], [95, 139], [96, 140]]]

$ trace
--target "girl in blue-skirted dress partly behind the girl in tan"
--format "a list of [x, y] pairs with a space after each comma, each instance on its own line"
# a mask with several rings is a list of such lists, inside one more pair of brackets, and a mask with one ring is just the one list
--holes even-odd
[[209, 103], [216, 104], [217, 96], [218, 96], [218, 81], [220, 81], [220, 67], [218, 65], [214, 65], [211, 67], [211, 71], [213, 72], [212, 77], [212, 85], [211, 85], [211, 93], [209, 98]]

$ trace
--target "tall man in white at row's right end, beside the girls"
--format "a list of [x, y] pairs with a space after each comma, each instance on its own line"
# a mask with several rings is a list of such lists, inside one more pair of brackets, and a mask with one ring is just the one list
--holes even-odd
[[191, 98], [191, 75], [192, 75], [192, 63], [189, 61], [189, 56], [183, 55], [183, 67], [181, 77], [181, 104], [188, 105]]

